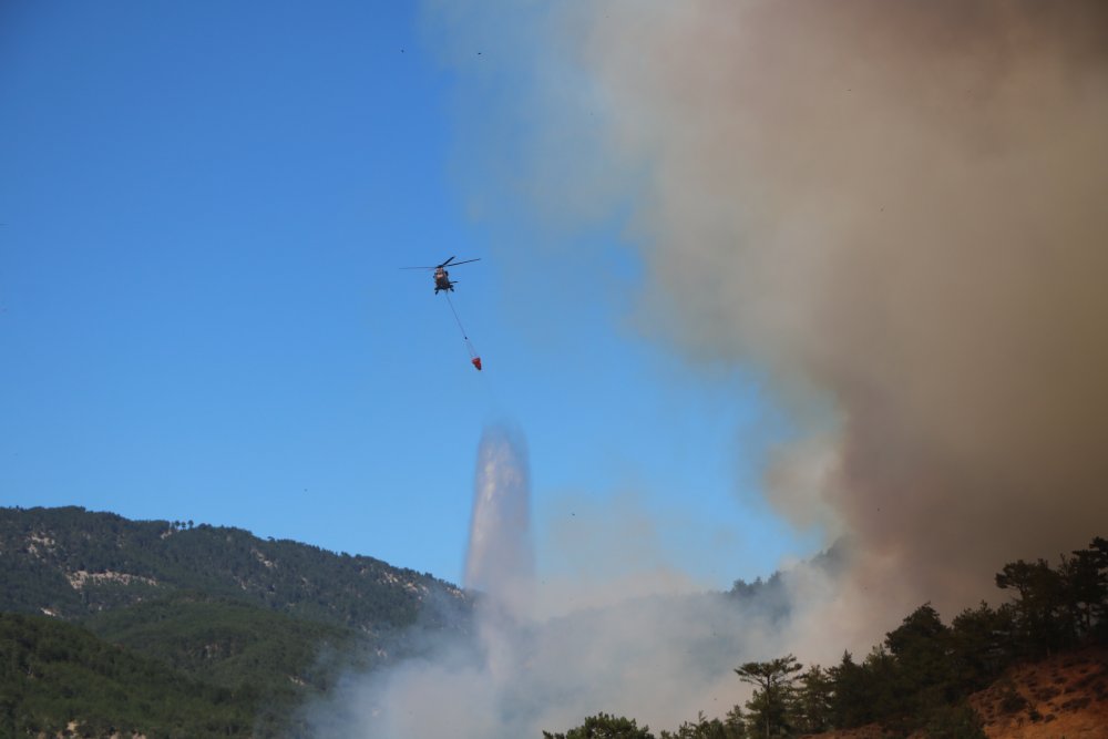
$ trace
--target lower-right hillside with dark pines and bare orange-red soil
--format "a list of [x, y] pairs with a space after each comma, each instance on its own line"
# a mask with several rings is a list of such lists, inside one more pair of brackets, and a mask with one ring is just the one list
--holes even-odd
[[[1008, 603], [982, 603], [950, 625], [924, 604], [860, 660], [844, 651], [827, 668], [804, 669], [792, 655], [737, 665], [737, 678], [755, 686], [745, 706], [658, 736], [1057, 739], [1070, 726], [1086, 727], [1070, 739], [1108, 737], [1108, 541], [1094, 538], [1056, 567], [1045, 560], [1006, 564], [996, 585], [1012, 594]], [[634, 719], [601, 714], [544, 736], [655, 735]]]

